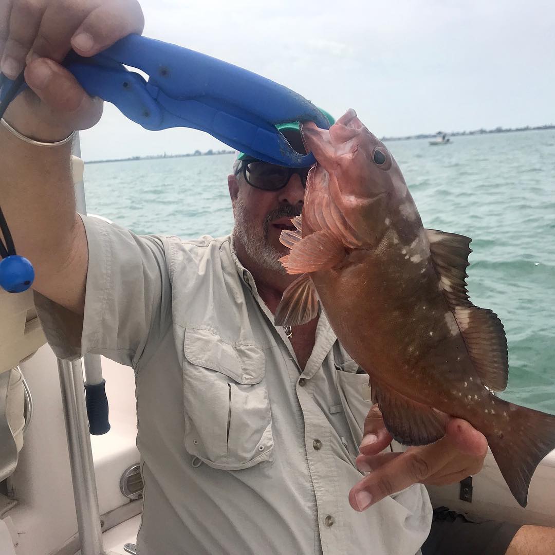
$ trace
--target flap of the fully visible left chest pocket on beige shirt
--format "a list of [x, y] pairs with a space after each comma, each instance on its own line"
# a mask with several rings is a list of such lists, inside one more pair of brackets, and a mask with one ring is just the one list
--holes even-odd
[[196, 366], [221, 372], [239, 384], [258, 384], [264, 377], [264, 352], [255, 345], [230, 345], [210, 330], [185, 330], [185, 357]]

